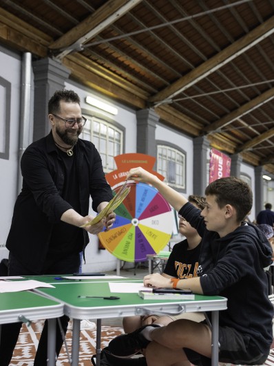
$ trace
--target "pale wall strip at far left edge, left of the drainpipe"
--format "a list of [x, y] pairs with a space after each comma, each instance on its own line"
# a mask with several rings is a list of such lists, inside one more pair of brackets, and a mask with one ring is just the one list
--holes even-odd
[[[19, 144], [19, 108], [21, 92], [21, 58], [0, 46], [0, 77], [11, 83], [10, 110], [10, 156], [9, 160], [0, 159], [0, 244], [6, 244], [13, 206], [17, 198], [18, 144]], [[1, 121], [3, 123], [3, 121]], [[7, 256], [8, 251], [1, 249], [0, 260]]]

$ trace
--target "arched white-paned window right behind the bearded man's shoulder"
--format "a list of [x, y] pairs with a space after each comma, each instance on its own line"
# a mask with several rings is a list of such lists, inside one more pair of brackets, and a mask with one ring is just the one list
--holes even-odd
[[114, 156], [123, 153], [123, 128], [98, 117], [85, 116], [87, 122], [83, 128], [83, 139], [93, 142], [96, 146], [101, 155], [105, 173], [114, 171], [116, 169]]

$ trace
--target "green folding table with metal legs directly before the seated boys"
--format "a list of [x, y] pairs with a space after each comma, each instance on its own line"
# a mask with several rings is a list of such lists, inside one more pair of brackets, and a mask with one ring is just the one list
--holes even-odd
[[[45, 278], [38, 278], [43, 281]], [[46, 278], [50, 282], [50, 278]], [[54, 278], [52, 278], [54, 280]], [[182, 312], [211, 311], [212, 314], [212, 365], [218, 366], [219, 311], [226, 309], [226, 298], [196, 295], [195, 300], [143, 300], [137, 293], [111, 293], [109, 282], [140, 282], [132, 278], [60, 280], [50, 282], [55, 288], [39, 288], [36, 292], [63, 302], [64, 314], [73, 319], [72, 366], [78, 366], [81, 319], [97, 319], [97, 331], [101, 336], [101, 319], [144, 314], [181, 314]], [[118, 300], [101, 298], [78, 298], [78, 296], [118, 296]], [[98, 343], [99, 334], [97, 333]], [[101, 338], [100, 338], [101, 339]], [[97, 344], [96, 360], [100, 363], [101, 347]]]

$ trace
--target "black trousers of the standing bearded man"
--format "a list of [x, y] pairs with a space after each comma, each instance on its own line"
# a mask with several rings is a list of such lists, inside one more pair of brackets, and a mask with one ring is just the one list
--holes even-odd
[[[31, 255], [31, 254], [30, 254]], [[52, 256], [53, 257], [53, 256]], [[41, 274], [45, 275], [61, 275], [78, 272], [80, 267], [80, 255], [74, 253], [64, 258], [49, 258], [45, 263]], [[8, 274], [9, 276], [32, 276], [36, 273], [32, 273], [26, 269], [20, 262], [10, 253], [8, 261]], [[70, 320], [67, 316], [60, 318], [61, 326], [64, 334], [67, 331], [67, 325]], [[16, 322], [11, 324], [4, 324], [1, 327], [1, 342], [0, 342], [0, 366], [8, 366], [12, 359], [14, 347], [17, 344], [19, 333], [21, 330], [22, 323]], [[58, 323], [56, 323], [56, 354], [60, 353], [63, 345], [63, 338], [59, 329]], [[45, 320], [45, 325], [41, 333], [39, 345], [36, 351], [34, 359], [34, 366], [47, 366], [48, 358], [48, 321]]]

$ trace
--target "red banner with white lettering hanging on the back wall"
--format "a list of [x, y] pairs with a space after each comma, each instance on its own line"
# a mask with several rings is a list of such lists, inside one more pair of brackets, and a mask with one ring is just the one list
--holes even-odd
[[229, 177], [231, 157], [211, 148], [209, 161], [209, 183], [222, 177]]

